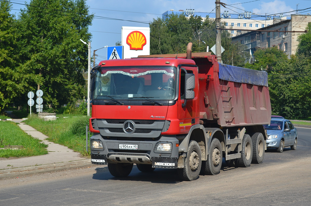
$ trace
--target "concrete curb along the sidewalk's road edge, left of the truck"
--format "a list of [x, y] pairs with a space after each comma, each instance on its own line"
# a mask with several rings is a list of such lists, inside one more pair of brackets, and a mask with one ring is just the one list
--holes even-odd
[[12, 169], [0, 170], [0, 180], [11, 177], [20, 177], [26, 175], [35, 175], [45, 172], [55, 172], [60, 170], [66, 170], [77, 167], [92, 166], [90, 159], [77, 160], [71, 162], [60, 162], [54, 164], [38, 165], [38, 166], [28, 166], [28, 167], [18, 167]]

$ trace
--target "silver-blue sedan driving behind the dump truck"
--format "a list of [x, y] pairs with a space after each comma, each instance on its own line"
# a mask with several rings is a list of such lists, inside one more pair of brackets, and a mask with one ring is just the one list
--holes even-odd
[[289, 146], [296, 149], [298, 132], [290, 120], [272, 118], [270, 124], [263, 127], [267, 129], [267, 148], [276, 148], [277, 152], [283, 152], [284, 147]]

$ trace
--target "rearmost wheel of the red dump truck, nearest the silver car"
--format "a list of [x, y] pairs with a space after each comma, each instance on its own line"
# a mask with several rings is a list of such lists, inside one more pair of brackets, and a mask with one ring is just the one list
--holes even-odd
[[252, 136], [253, 158], [252, 163], [261, 164], [265, 155], [265, 139], [262, 133], [257, 132]]

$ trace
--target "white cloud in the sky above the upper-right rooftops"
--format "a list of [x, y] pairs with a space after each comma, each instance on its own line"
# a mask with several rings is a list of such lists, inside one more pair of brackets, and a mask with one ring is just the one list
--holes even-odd
[[276, 14], [281, 12], [293, 11], [290, 6], [286, 6], [284, 1], [275, 0], [273, 2], [262, 2], [259, 4], [260, 8], [254, 8], [253, 13], [265, 15], [265, 14]]

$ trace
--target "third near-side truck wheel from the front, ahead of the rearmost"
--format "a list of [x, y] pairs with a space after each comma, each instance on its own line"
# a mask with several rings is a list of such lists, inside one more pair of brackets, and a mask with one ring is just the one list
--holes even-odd
[[249, 167], [253, 158], [253, 144], [252, 138], [248, 134], [244, 134], [242, 140], [241, 157], [237, 159], [238, 166]]

